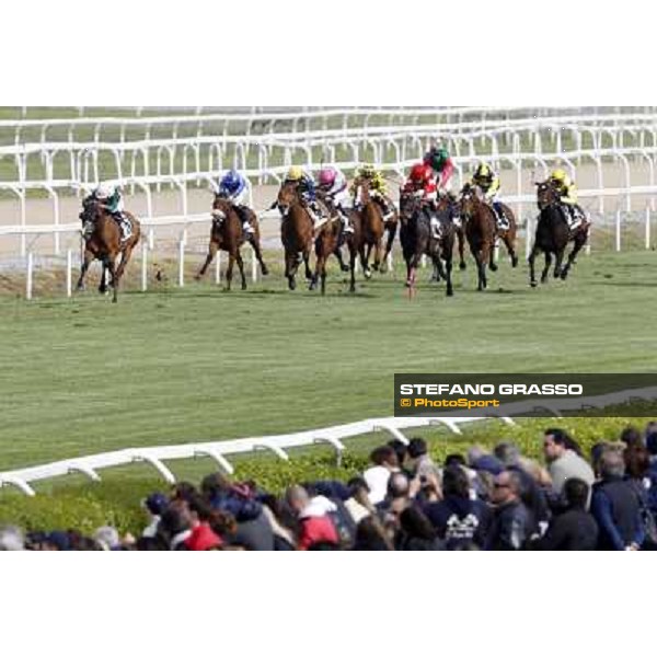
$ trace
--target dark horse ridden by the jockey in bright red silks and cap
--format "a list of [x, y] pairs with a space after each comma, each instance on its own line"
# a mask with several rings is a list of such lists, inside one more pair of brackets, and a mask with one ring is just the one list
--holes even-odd
[[[437, 210], [423, 203], [412, 192], [402, 192], [400, 198], [402, 229], [400, 239], [406, 262], [406, 287], [411, 295], [415, 291], [417, 268], [423, 255], [434, 263], [438, 279], [447, 281], [447, 296], [453, 297], [452, 268], [457, 239], [457, 227], [453, 222], [453, 206], [448, 198], [438, 203]], [[438, 237], [434, 234], [431, 217], [439, 221]], [[442, 263], [445, 262], [445, 268]]]

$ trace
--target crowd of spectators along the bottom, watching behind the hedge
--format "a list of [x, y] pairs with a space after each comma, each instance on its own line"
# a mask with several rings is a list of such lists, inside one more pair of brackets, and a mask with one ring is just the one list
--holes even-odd
[[[143, 502], [143, 530], [23, 532], [0, 550], [138, 551], [638, 551], [657, 549], [657, 424], [626, 429], [584, 454], [561, 429], [544, 463], [512, 442], [445, 463], [427, 443], [393, 441], [347, 484], [298, 483], [273, 495], [222, 474]], [[0, 519], [1, 521], [1, 519]]]

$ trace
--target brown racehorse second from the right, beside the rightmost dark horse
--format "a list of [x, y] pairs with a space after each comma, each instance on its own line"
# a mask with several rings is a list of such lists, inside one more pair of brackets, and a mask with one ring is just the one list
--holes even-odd
[[465, 185], [461, 192], [460, 216], [465, 222], [465, 237], [470, 251], [476, 262], [479, 291], [488, 287], [486, 267], [493, 268], [495, 258], [495, 241], [497, 239], [497, 221], [495, 212], [484, 199], [481, 189]]

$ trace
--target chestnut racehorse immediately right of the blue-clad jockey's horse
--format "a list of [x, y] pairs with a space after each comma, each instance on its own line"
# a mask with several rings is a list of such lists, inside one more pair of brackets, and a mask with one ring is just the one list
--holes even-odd
[[278, 193], [278, 209], [283, 216], [280, 239], [285, 249], [285, 276], [290, 290], [297, 289], [297, 272], [301, 261], [306, 265], [306, 278], [312, 280], [310, 253], [314, 238], [314, 221], [301, 199], [299, 184], [284, 183]]

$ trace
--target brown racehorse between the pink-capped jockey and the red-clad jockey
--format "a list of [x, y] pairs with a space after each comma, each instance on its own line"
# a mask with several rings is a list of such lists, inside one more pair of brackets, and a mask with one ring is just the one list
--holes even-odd
[[[358, 209], [353, 214], [354, 232], [348, 237], [351, 286], [353, 292], [356, 291], [356, 258], [360, 256], [360, 264], [366, 279], [372, 277], [369, 266], [369, 258], [374, 250], [373, 270], [381, 268], [381, 253], [383, 233], [385, 232], [385, 221], [383, 210], [380, 205], [370, 195], [370, 183], [361, 177], [356, 181], [356, 200]], [[396, 231], [395, 231], [396, 233]], [[390, 244], [392, 249], [392, 244]]]

